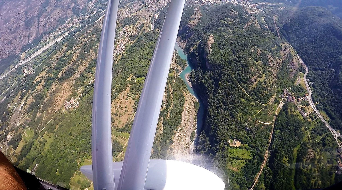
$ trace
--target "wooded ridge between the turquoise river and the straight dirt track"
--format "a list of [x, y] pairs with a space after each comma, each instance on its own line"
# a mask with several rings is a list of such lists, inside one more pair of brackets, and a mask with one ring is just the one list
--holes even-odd
[[[260, 170], [272, 130], [258, 120], [272, 123], [276, 92], [293, 84], [299, 62], [289, 44], [261, 29], [242, 6], [203, 5], [200, 11], [193, 26], [198, 14], [185, 10], [190, 16], [181, 28], [193, 35], [180, 31], [179, 39], [196, 68], [190, 81], [206, 106], [196, 151], [214, 157], [229, 176], [229, 188], [246, 189]], [[232, 146], [233, 139], [241, 146]]]

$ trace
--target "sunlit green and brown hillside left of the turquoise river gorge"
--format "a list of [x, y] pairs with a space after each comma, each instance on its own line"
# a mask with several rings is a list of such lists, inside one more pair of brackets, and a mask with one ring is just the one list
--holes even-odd
[[[145, 13], [145, 9], [143, 6], [136, 11]], [[147, 13], [152, 15], [158, 9]], [[14, 134], [6, 156], [20, 169], [29, 169], [39, 178], [71, 189], [92, 188], [78, 170], [91, 164], [92, 98], [102, 27], [102, 22], [94, 23], [95, 20], [83, 23], [83, 27], [30, 61], [28, 65], [34, 68], [31, 74], [23, 74], [22, 66], [1, 81], [4, 90], [14, 84], [13, 91], [8, 90], [1, 102], [1, 141], [7, 141], [7, 134]], [[119, 18], [114, 50], [113, 161], [124, 158], [160, 31], [149, 31], [149, 20], [141, 15], [130, 15], [128, 23], [125, 20]], [[175, 53], [159, 119], [162, 130], [156, 134], [153, 158], [165, 159], [171, 154], [170, 146], [179, 127], [191, 129], [189, 134], [183, 133], [184, 138], [195, 129], [193, 123], [182, 118], [193, 118], [196, 122], [197, 114], [195, 98], [179, 77], [184, 67], [184, 60]]]

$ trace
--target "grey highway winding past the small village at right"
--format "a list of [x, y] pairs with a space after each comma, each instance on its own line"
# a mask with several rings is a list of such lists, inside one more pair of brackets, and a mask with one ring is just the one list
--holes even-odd
[[[298, 56], [299, 57], [299, 56]], [[300, 57], [299, 57], [300, 58]], [[306, 89], [308, 91], [308, 94], [309, 94], [309, 97], [308, 97], [308, 100], [309, 100], [309, 103], [311, 105], [311, 107], [314, 109], [314, 111], [316, 112], [317, 116], [323, 121], [323, 123], [325, 124], [325, 126], [327, 126], [327, 128], [329, 129], [329, 131], [334, 135], [335, 137], [335, 140], [338, 144], [338, 146], [340, 148], [342, 148], [341, 144], [337, 141], [337, 137], [340, 136], [342, 137], [342, 135], [340, 133], [338, 133], [336, 130], [334, 130], [333, 128], [331, 128], [331, 126], [329, 125], [329, 123], [324, 119], [324, 117], [319, 113], [318, 109], [316, 108], [316, 105], [315, 103], [312, 101], [312, 97], [311, 97], [311, 94], [312, 94], [312, 90], [309, 86], [309, 84], [307, 83], [306, 81], [306, 75], [307, 73], [309, 72], [308, 68], [306, 67], [306, 65], [304, 64], [304, 62], [302, 61], [302, 59], [300, 58], [301, 60], [301, 63], [304, 65], [304, 69], [305, 69], [305, 74], [304, 74], [304, 82], [305, 82], [305, 86], [306, 86]]]

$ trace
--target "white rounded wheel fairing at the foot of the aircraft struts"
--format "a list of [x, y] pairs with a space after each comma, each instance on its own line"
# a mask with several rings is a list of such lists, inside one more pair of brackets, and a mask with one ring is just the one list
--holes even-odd
[[[113, 162], [116, 189], [123, 162]], [[81, 172], [93, 179], [92, 166], [81, 167]], [[150, 160], [145, 190], [223, 190], [222, 179], [209, 170], [182, 161]]]

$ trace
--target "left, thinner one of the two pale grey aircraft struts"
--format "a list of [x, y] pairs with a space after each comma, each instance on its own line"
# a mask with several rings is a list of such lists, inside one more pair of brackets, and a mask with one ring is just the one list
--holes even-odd
[[92, 112], [94, 190], [115, 190], [111, 162], [111, 74], [119, 0], [108, 0], [98, 48]]

